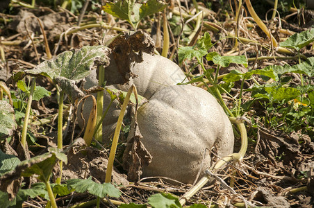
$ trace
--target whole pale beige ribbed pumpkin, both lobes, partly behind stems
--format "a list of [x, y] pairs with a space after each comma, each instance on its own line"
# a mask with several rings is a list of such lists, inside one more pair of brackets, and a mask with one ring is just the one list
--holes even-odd
[[[125, 85], [115, 61], [105, 69], [108, 88], [126, 91], [134, 84], [138, 94], [149, 100], [138, 109], [138, 126], [142, 144], [151, 154], [149, 166], [143, 167], [142, 177], [165, 176], [185, 183], [194, 182], [197, 173], [210, 167], [210, 153], [224, 157], [233, 153], [231, 123], [216, 99], [206, 90], [192, 85], [176, 85], [185, 79], [174, 62], [160, 55], [142, 53], [142, 62], [131, 62], [133, 77]], [[96, 72], [87, 78], [85, 88], [96, 86]], [[104, 109], [110, 101], [104, 93]], [[118, 102], [111, 106], [103, 123], [104, 140], [115, 129], [119, 116]], [[83, 111], [88, 119], [91, 103]], [[80, 124], [80, 119], [78, 119]], [[81, 122], [81, 127], [83, 127]], [[131, 133], [129, 134], [129, 136]]]

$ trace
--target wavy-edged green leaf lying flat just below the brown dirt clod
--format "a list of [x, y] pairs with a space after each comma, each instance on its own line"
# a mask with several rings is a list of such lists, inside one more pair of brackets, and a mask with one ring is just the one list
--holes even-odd
[[104, 198], [106, 195], [115, 198], [119, 198], [119, 196], [121, 196], [119, 189], [114, 187], [112, 184], [98, 184], [97, 182], [93, 182], [90, 179], [67, 180], [67, 187], [69, 189], [74, 189], [78, 193], [84, 193], [85, 191], [88, 191], [90, 194], [98, 196], [99, 198]]

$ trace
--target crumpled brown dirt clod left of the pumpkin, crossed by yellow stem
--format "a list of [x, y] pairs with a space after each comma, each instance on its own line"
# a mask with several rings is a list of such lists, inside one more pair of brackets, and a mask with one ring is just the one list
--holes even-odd
[[[106, 168], [108, 156], [97, 148], [73, 146], [67, 153], [67, 164], [63, 167], [63, 179], [88, 178], [104, 183], [106, 178]], [[113, 170], [113, 180], [116, 184], [129, 184], [126, 175]]]

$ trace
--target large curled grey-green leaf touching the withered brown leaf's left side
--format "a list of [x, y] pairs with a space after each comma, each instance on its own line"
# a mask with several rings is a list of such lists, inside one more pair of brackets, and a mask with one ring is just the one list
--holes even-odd
[[[83, 46], [81, 49], [65, 51], [51, 60], [46, 60], [31, 70], [25, 70], [31, 76], [47, 76], [72, 98], [84, 96], [76, 84], [90, 74], [94, 63], [109, 63], [109, 49], [106, 46]], [[22, 77], [17, 75], [17, 77]]]

